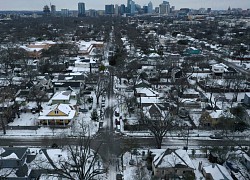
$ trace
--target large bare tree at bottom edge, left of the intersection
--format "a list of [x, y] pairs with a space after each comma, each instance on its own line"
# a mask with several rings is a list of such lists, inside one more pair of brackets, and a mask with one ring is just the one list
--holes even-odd
[[92, 180], [105, 173], [98, 151], [90, 149], [90, 137], [79, 137], [77, 145], [68, 145], [65, 150], [67, 156], [55, 161], [47, 152], [42, 150], [43, 155], [35, 160], [37, 168], [45, 170], [50, 176], [66, 178], [70, 180]]

